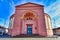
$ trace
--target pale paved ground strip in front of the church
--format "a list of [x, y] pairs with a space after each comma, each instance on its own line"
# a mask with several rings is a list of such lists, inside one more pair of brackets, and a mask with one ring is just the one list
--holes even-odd
[[0, 40], [60, 40], [60, 38], [0, 38]]

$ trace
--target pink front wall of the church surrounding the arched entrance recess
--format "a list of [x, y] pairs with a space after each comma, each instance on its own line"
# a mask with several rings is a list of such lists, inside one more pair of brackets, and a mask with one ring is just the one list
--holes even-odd
[[12, 36], [22, 34], [23, 19], [21, 19], [21, 16], [24, 16], [24, 14], [28, 11], [32, 11], [38, 17], [37, 18], [38, 34], [42, 36], [47, 36], [45, 19], [44, 19], [44, 8], [42, 6], [37, 6], [33, 4], [28, 4], [28, 5], [26, 4], [26, 6], [23, 5], [16, 7]]

